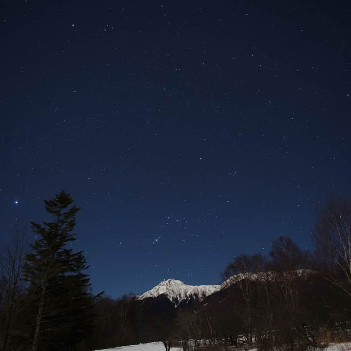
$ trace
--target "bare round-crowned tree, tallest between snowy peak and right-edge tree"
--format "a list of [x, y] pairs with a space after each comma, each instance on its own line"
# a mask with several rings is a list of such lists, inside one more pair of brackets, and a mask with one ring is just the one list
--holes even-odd
[[[280, 236], [272, 242], [269, 269], [272, 273], [271, 292], [274, 318], [271, 318], [271, 330], [261, 338], [261, 348], [271, 347], [272, 336], [281, 347], [288, 350], [306, 350], [312, 345], [307, 333], [306, 309], [302, 297], [311, 281], [313, 272], [309, 267], [307, 253], [303, 252], [289, 237]], [[269, 282], [268, 282], [269, 283]], [[269, 317], [271, 311], [266, 311]], [[267, 318], [268, 319], [268, 318]], [[270, 331], [275, 330], [272, 334]], [[267, 333], [268, 332], [268, 333]], [[265, 338], [265, 334], [270, 335]]]

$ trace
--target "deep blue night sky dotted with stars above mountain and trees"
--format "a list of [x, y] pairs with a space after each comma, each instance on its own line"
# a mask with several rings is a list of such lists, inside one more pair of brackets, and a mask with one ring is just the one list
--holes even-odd
[[[217, 284], [350, 198], [349, 1], [4, 1], [1, 240], [77, 205], [94, 292]], [[34, 238], [34, 234], [28, 234]]]

